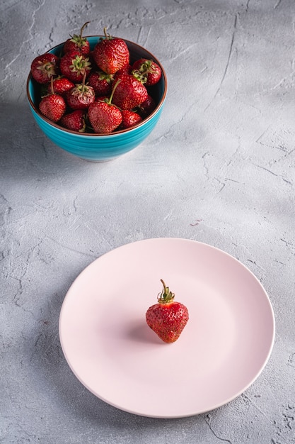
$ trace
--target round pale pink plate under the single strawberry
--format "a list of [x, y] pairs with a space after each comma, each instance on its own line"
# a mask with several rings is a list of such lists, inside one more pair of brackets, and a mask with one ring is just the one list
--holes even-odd
[[[160, 279], [190, 314], [173, 344], [145, 321]], [[116, 248], [81, 272], [59, 336], [71, 370], [98, 398], [132, 414], [179, 418], [216, 409], [255, 381], [272, 351], [274, 313], [258, 279], [231, 255], [156, 238]]]

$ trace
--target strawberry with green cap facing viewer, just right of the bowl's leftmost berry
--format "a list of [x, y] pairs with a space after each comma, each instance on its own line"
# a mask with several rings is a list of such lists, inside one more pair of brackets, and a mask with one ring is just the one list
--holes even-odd
[[78, 50], [66, 52], [59, 62], [59, 69], [64, 77], [67, 77], [71, 82], [79, 83], [83, 80], [83, 75], [86, 76], [91, 70], [91, 63], [88, 57], [85, 57]]

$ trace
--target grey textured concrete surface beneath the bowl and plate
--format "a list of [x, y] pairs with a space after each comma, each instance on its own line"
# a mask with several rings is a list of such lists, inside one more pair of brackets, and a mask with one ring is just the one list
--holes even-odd
[[[0, 441], [295, 443], [295, 3], [291, 0], [2, 0]], [[36, 55], [87, 34], [144, 45], [163, 63], [161, 121], [118, 160], [79, 160], [30, 114]], [[277, 323], [255, 383], [207, 414], [127, 414], [74, 377], [59, 344], [67, 289], [117, 246], [200, 240], [260, 279]]]

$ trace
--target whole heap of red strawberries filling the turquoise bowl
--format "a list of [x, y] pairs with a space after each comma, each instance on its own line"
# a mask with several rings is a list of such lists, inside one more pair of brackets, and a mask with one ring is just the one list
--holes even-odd
[[81, 133], [112, 133], [130, 128], [154, 111], [149, 89], [161, 79], [154, 60], [132, 62], [125, 40], [104, 37], [91, 51], [79, 35], [66, 40], [60, 57], [45, 52], [31, 64], [40, 84], [40, 112], [54, 123]]

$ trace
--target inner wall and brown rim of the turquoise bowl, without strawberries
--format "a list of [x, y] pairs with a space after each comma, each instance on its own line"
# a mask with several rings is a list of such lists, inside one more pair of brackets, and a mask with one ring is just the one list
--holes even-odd
[[[90, 43], [91, 50], [93, 50], [96, 43], [98, 43], [98, 40], [101, 37], [103, 37], [103, 36], [102, 35], [88, 35], [88, 36], [86, 36], [86, 38], [88, 39], [88, 41]], [[166, 73], [163, 70], [163, 66], [161, 65], [161, 62], [159, 62], [156, 59], [156, 57], [154, 57], [154, 55], [151, 54], [151, 52], [149, 52], [145, 48], [142, 48], [140, 45], [137, 45], [137, 43], [133, 43], [129, 40], [125, 40], [125, 43], [127, 44], [127, 47], [130, 52], [130, 64], [131, 65], [132, 65], [132, 63], [134, 63], [135, 60], [138, 60], [139, 58], [147, 58], [147, 59], [154, 60], [154, 62], [156, 62], [161, 67], [162, 77], [156, 85], [154, 85], [153, 87], [149, 87], [149, 95], [153, 97], [153, 99], [156, 103], [156, 109], [154, 109], [154, 111], [152, 111], [149, 116], [144, 118], [144, 120], [141, 121], [137, 126], [134, 126], [132, 128], [127, 128], [127, 129], [121, 130], [121, 131], [114, 131], [110, 134], [125, 133], [126, 131], [130, 131], [130, 129], [134, 129], [134, 128], [137, 128], [138, 126], [144, 125], [144, 123], [146, 123], [146, 121], [148, 121], [150, 118], [152, 118], [158, 112], [158, 110], [163, 105], [163, 101], [165, 100], [165, 97], [166, 97], [166, 89], [167, 89], [167, 87], [166, 87], [166, 85], [167, 85]], [[48, 52], [52, 52], [53, 54], [60, 57], [62, 55], [63, 45], [64, 45], [64, 43], [60, 43], [59, 45], [54, 46], [54, 48], [52, 48]], [[67, 130], [66, 128], [63, 128], [62, 126], [59, 126], [58, 123], [53, 123], [52, 121], [47, 119], [45, 116], [43, 116], [42, 113], [40, 113], [39, 103], [40, 103], [40, 97], [42, 95], [42, 88], [43, 88], [42, 85], [35, 82], [35, 79], [33, 79], [31, 74], [29, 74], [28, 82], [27, 82], [27, 95], [28, 95], [28, 100], [30, 102], [30, 106], [32, 106], [35, 113], [37, 113], [42, 119], [47, 121], [47, 123], [49, 123], [50, 125], [60, 128], [63, 131], [66, 131], [68, 133], [74, 133], [74, 131], [70, 131], [70, 130]], [[95, 134], [95, 133], [83, 133], [83, 135], [100, 136], [100, 134]]]

